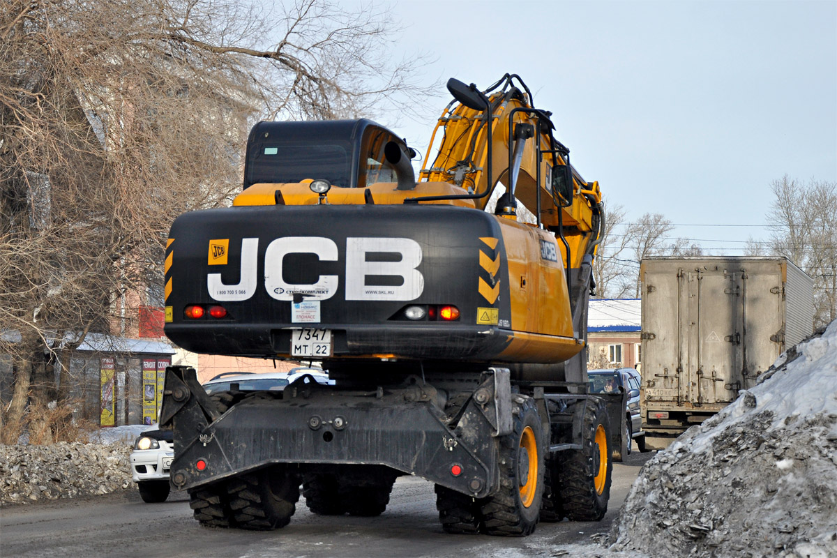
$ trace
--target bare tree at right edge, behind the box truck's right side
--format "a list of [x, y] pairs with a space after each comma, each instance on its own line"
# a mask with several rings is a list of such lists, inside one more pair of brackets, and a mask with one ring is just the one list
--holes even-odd
[[771, 250], [814, 279], [814, 325], [826, 325], [837, 319], [837, 182], [785, 175], [771, 190]]

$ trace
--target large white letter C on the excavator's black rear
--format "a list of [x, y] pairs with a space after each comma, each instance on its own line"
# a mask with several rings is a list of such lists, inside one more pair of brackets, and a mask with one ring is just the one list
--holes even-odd
[[330, 299], [337, 291], [336, 275], [320, 275], [314, 284], [288, 284], [282, 279], [282, 260], [289, 253], [316, 253], [323, 261], [337, 259], [337, 245], [331, 238], [276, 238], [264, 252], [264, 289], [277, 300], [293, 300], [294, 294], [306, 300]]

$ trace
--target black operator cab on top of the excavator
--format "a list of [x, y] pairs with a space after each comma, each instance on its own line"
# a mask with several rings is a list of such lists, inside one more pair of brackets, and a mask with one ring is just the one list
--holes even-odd
[[344, 188], [398, 182], [397, 166], [385, 155], [390, 141], [408, 152], [392, 131], [365, 118], [259, 122], [247, 141], [244, 188], [305, 179]]

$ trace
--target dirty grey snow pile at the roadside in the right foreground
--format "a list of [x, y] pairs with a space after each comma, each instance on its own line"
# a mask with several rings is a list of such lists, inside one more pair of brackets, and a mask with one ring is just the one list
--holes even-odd
[[611, 550], [837, 556], [837, 321], [644, 465]]

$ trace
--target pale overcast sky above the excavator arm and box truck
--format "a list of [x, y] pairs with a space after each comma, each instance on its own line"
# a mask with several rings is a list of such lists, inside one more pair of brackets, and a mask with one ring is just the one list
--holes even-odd
[[389, 4], [406, 26], [393, 55], [424, 50], [441, 85], [433, 116], [381, 120], [423, 153], [444, 81], [509, 72], [609, 202], [664, 214], [706, 253], [767, 238], [773, 180], [837, 182], [835, 0]]

